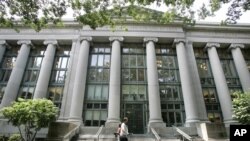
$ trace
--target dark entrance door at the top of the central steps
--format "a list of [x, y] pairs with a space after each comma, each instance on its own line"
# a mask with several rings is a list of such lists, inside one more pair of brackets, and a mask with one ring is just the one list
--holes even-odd
[[133, 134], [144, 133], [144, 109], [143, 104], [124, 104], [123, 116], [128, 117], [128, 130]]

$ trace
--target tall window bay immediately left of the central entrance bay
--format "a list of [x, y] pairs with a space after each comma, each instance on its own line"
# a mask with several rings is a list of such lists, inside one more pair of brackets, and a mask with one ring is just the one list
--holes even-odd
[[90, 48], [84, 102], [85, 126], [104, 125], [108, 116], [109, 69], [111, 49], [107, 44]]

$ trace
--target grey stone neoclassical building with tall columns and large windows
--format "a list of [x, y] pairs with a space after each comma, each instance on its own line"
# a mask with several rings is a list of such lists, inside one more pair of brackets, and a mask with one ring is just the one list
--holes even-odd
[[[0, 108], [18, 97], [50, 99], [60, 109], [55, 126], [77, 125], [78, 139], [99, 131], [114, 140], [123, 117], [133, 136], [164, 137], [175, 126], [204, 139], [237, 124], [231, 94], [250, 90], [249, 25], [125, 26], [1, 28]], [[0, 119], [0, 134], [16, 131]]]

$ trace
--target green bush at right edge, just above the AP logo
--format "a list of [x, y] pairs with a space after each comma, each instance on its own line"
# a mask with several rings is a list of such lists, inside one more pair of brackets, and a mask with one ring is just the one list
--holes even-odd
[[250, 93], [235, 92], [233, 97], [233, 118], [250, 125]]

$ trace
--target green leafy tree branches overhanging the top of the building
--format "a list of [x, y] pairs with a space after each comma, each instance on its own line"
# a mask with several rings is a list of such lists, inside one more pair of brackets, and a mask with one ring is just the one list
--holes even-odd
[[[135, 21], [168, 23], [174, 19], [194, 24], [194, 15], [211, 16], [225, 3], [231, 3], [225, 23], [235, 23], [243, 10], [250, 9], [250, 0], [209, 0], [200, 8], [194, 7], [195, 0], [1, 0], [0, 27], [28, 25], [36, 31], [48, 23], [62, 25], [67, 10], [73, 10], [73, 17], [83, 25], [95, 29], [103, 25], [114, 26], [132, 17]], [[155, 4], [166, 7], [164, 12], [145, 10]], [[156, 9], [157, 10], [157, 9]]]

